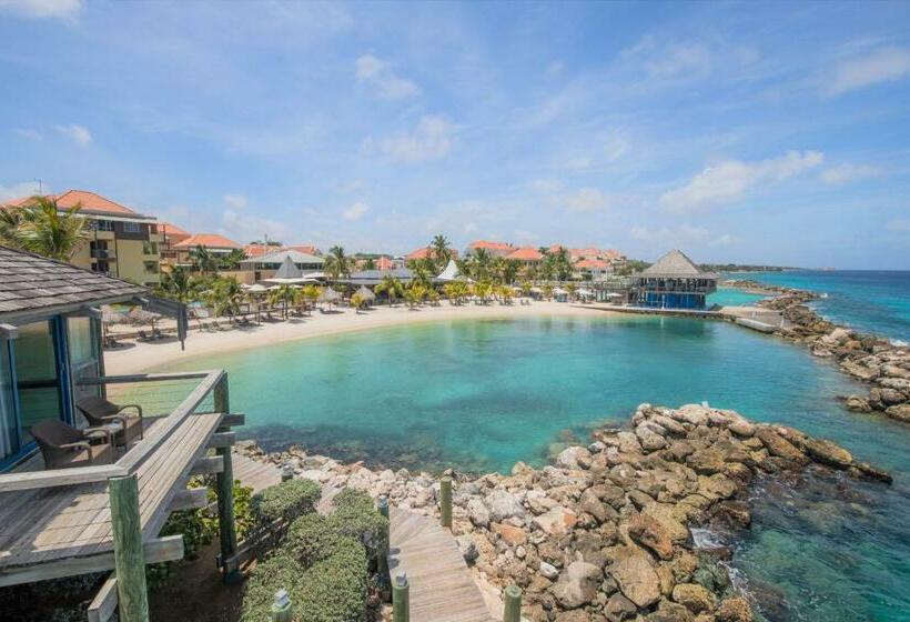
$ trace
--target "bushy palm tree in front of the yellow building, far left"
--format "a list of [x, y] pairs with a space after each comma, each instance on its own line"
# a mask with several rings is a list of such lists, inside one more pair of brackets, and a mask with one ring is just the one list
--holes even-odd
[[[0, 240], [11, 247], [58, 261], [70, 261], [91, 233], [79, 214], [82, 203], [61, 211], [52, 197], [32, 197], [21, 209], [7, 208], [0, 221]], [[17, 213], [12, 213], [17, 212]]]

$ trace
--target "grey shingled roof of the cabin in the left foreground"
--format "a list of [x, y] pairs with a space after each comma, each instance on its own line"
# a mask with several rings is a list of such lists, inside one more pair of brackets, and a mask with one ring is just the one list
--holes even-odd
[[28, 311], [127, 300], [145, 288], [0, 245], [0, 320]]

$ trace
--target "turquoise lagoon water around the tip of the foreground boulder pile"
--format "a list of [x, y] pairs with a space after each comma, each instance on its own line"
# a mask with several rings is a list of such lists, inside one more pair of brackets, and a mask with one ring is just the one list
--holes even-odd
[[299, 443], [373, 465], [542, 464], [550, 443], [625, 424], [643, 401], [708, 400], [799, 427], [896, 484], [760, 489], [736, 572], [771, 621], [910, 620], [910, 429], [845, 410], [837, 395], [860, 387], [805, 348], [724, 322], [552, 318], [348, 333], [180, 367], [226, 368], [233, 409], [266, 449]]

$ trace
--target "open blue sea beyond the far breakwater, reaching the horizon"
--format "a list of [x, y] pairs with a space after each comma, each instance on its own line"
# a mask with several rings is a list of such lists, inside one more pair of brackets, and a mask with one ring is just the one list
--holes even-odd
[[805, 270], [741, 277], [822, 293], [826, 298], [812, 307], [825, 318], [910, 342], [910, 271]]

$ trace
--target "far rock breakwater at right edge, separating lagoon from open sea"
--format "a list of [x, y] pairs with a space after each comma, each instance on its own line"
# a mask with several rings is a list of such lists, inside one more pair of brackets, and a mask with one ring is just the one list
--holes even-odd
[[780, 311], [789, 327], [778, 331], [807, 345], [812, 354], [830, 358], [841, 370], [870, 384], [867, 395], [847, 395], [847, 408], [881, 412], [910, 423], [910, 348], [833, 324], [806, 307], [811, 292], [796, 291], [758, 304]]

